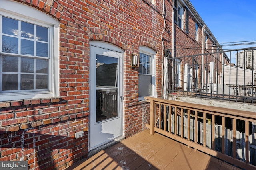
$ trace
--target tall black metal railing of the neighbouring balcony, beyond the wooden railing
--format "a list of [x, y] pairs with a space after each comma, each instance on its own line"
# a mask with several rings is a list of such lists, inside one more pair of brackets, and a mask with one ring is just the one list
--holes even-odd
[[168, 93], [256, 103], [255, 48], [168, 58]]

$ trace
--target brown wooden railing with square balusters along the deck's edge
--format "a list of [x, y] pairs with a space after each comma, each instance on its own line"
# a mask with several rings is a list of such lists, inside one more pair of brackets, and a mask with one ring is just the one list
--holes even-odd
[[161, 133], [240, 168], [256, 168], [256, 113], [146, 99], [150, 102], [150, 124], [146, 125], [150, 134]]

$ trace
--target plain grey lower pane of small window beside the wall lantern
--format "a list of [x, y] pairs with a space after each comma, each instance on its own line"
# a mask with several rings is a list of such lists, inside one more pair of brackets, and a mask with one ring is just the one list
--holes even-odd
[[152, 76], [139, 74], [139, 97], [150, 96], [152, 93]]

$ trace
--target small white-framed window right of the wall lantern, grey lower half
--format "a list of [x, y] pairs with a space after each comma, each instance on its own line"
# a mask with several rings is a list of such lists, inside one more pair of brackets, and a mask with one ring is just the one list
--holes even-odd
[[155, 54], [148, 47], [139, 47], [138, 100], [143, 100], [145, 96], [155, 96]]

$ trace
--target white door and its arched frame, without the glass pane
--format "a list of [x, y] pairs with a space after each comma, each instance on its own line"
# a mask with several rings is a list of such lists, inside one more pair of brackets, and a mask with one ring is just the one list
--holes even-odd
[[[96, 49], [96, 51], [94, 50]], [[102, 51], [103, 54], [102, 54]], [[96, 123], [96, 54], [118, 58], [118, 116]], [[123, 58], [124, 51], [112, 44], [102, 41], [90, 42], [90, 99], [89, 99], [89, 146], [95, 149], [123, 135]], [[118, 57], [117, 57], [118, 56]], [[94, 69], [95, 67], [95, 69]], [[93, 75], [94, 74], [94, 75]]]

